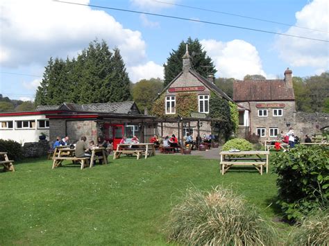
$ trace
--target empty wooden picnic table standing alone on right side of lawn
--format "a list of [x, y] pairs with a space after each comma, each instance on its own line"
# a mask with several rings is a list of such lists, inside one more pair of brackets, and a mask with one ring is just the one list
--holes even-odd
[[255, 166], [263, 174], [263, 167], [266, 167], [266, 173], [269, 171], [269, 151], [221, 151], [221, 161], [219, 167], [221, 174], [224, 175], [233, 165]]

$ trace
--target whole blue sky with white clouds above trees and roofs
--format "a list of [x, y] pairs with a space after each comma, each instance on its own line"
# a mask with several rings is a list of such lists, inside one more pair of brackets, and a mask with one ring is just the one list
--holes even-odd
[[[183, 8], [153, 0], [71, 2], [329, 39], [326, 0], [159, 1], [267, 19], [324, 32]], [[282, 78], [287, 67], [292, 69], [294, 76], [304, 77], [329, 69], [328, 42], [50, 0], [4, 0], [0, 7], [0, 94], [12, 99], [33, 99], [44, 66], [51, 56], [76, 56], [96, 37], [105, 39], [111, 48], [118, 47], [121, 50], [133, 82], [142, 78], [162, 78], [162, 64], [166, 62], [171, 49], [176, 49], [187, 37], [201, 41], [217, 67], [217, 77], [242, 79], [249, 73]]]

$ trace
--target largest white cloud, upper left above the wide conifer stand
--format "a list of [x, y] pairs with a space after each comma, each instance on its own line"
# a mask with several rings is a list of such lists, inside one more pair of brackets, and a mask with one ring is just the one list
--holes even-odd
[[50, 56], [66, 58], [87, 47], [96, 37], [106, 40], [110, 48], [119, 48], [127, 66], [146, 58], [141, 33], [124, 28], [102, 10], [50, 0], [3, 0], [0, 9], [3, 67], [44, 65]]

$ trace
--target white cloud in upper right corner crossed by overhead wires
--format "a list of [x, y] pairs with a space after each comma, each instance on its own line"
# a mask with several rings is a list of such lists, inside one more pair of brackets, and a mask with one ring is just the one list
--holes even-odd
[[[303, 26], [326, 32], [291, 27], [286, 34], [315, 39], [329, 39], [328, 0], [314, 0], [301, 11], [296, 12], [296, 26]], [[314, 67], [317, 71], [329, 69], [328, 43], [300, 39], [296, 37], [277, 37], [276, 49], [280, 58], [292, 67]]]

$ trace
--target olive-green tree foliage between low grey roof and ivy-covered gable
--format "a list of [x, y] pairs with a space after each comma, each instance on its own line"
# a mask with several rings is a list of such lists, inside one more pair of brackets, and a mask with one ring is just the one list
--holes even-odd
[[160, 78], [151, 78], [150, 80], [140, 80], [132, 85], [131, 91], [133, 100], [141, 111], [145, 108], [151, 109], [154, 98], [163, 89], [163, 82]]

